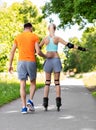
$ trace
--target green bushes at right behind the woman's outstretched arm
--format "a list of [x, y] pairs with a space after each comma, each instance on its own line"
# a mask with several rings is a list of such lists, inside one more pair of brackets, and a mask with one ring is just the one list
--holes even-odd
[[[69, 50], [65, 62], [65, 70], [77, 68], [78, 72], [88, 72], [96, 69], [96, 27], [87, 28], [81, 42], [71, 39], [71, 42], [88, 49], [86, 52]], [[77, 43], [76, 43], [77, 42]]]

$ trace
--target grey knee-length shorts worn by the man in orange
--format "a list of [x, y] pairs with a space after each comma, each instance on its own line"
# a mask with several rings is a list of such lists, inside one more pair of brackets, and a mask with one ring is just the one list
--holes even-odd
[[36, 62], [19, 61], [17, 65], [18, 78], [20, 80], [36, 79]]

